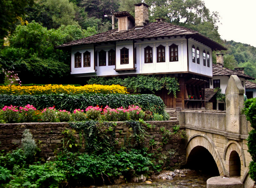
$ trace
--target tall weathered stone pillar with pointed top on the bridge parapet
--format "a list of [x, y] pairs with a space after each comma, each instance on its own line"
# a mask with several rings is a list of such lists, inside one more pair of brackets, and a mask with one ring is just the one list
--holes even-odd
[[231, 75], [226, 94], [226, 131], [241, 134], [241, 110], [244, 107], [244, 88], [237, 75]]

